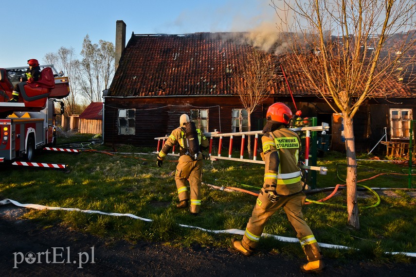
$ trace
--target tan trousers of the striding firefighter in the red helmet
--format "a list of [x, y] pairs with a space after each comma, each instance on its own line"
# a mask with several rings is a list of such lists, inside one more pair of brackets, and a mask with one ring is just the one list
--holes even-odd
[[262, 188], [253, 208], [253, 214], [247, 223], [241, 241], [242, 246], [249, 251], [253, 251], [260, 240], [267, 221], [279, 208], [283, 208], [290, 225], [296, 232], [296, 237], [301, 243], [307, 260], [322, 259], [318, 242], [316, 242], [312, 231], [303, 218], [302, 206], [305, 205], [305, 199], [305, 193], [300, 192], [290, 196], [280, 196], [277, 202], [271, 202], [267, 192]]

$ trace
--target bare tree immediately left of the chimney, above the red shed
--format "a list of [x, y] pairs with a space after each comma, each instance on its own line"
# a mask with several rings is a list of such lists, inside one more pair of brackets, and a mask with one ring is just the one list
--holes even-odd
[[82, 95], [90, 102], [100, 102], [102, 91], [109, 87], [114, 73], [115, 49], [112, 42], [100, 40], [91, 43], [86, 35], [82, 44], [81, 69], [84, 81], [81, 83]]

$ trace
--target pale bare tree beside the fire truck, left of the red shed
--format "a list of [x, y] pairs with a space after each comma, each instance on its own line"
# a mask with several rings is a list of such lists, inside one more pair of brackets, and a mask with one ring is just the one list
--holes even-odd
[[65, 111], [67, 115], [77, 114], [79, 110], [79, 96], [78, 84], [80, 83], [79, 76], [79, 61], [76, 59], [73, 48], [61, 47], [56, 53], [46, 53], [43, 58], [46, 63], [53, 64], [55, 69], [62, 70], [64, 75], [70, 80], [70, 94], [68, 97], [62, 99], [65, 103]]

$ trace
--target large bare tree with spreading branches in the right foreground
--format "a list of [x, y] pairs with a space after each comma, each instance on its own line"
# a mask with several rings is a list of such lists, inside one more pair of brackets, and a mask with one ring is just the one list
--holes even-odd
[[[303, 70], [309, 89], [344, 121], [348, 225], [360, 228], [353, 118], [368, 98], [388, 97], [383, 82], [415, 44], [414, 0], [271, 1], [291, 45], [291, 62]], [[291, 19], [293, 16], [293, 20]], [[288, 20], [290, 19], [290, 20]], [[389, 39], [401, 32], [394, 54]], [[333, 34], [334, 36], [331, 36]], [[404, 38], [403, 38], [404, 36]], [[397, 89], [403, 84], [398, 83]]]

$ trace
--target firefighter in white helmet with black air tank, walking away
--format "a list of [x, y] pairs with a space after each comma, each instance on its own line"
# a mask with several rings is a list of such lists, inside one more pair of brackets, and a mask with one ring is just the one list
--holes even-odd
[[[187, 123], [189, 122], [189, 123]], [[200, 151], [195, 155], [190, 155], [190, 140], [187, 139], [187, 128], [193, 124], [189, 121], [186, 114], [182, 114], [179, 120], [180, 126], [172, 131], [169, 138], [163, 145], [162, 151], [157, 157], [157, 165], [162, 166], [163, 159], [170, 152], [171, 148], [179, 144], [179, 161], [175, 172], [175, 182], [178, 189], [179, 204], [178, 208], [187, 208], [190, 204], [190, 212], [194, 215], [199, 213], [201, 206], [201, 173], [202, 173], [202, 153]], [[195, 125], [194, 125], [195, 126]], [[195, 137], [198, 136], [198, 147], [204, 150], [208, 148], [208, 139], [202, 134], [200, 129], [196, 129]], [[189, 134], [189, 133], [188, 133]], [[188, 135], [188, 138], [190, 135]], [[190, 192], [186, 186], [186, 180], [189, 181]]]

